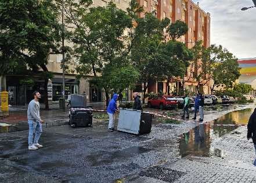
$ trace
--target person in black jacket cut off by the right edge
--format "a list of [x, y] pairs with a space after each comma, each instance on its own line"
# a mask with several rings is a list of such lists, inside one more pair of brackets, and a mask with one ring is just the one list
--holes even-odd
[[[255, 148], [255, 154], [256, 154], [256, 108], [254, 109], [253, 114], [251, 114], [250, 119], [247, 124], [247, 139], [250, 140], [250, 138], [253, 139], [253, 144]], [[256, 166], [256, 159], [254, 161], [254, 166]]]

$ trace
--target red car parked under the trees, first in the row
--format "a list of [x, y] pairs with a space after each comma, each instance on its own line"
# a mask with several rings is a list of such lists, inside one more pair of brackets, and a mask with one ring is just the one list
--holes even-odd
[[163, 108], [177, 107], [178, 103], [175, 97], [158, 96], [158, 97], [149, 99], [149, 101], [147, 102], [147, 106], [163, 109]]

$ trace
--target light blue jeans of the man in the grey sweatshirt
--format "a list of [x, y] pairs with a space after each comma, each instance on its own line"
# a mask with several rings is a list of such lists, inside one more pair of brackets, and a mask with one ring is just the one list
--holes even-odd
[[[33, 144], [37, 144], [38, 140], [42, 134], [42, 124], [41, 122], [30, 120], [28, 119], [28, 146], [31, 146]], [[33, 143], [33, 137], [35, 133], [34, 143]]]

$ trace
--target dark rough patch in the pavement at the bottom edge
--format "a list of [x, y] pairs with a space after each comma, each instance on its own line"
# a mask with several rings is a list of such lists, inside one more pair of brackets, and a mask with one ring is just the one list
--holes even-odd
[[146, 171], [141, 171], [140, 176], [151, 177], [165, 182], [174, 182], [186, 173], [176, 170], [167, 169], [165, 167], [154, 166]]

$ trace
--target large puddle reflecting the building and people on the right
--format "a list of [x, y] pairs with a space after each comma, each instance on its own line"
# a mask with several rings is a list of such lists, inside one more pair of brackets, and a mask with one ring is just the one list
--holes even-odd
[[[230, 112], [209, 124], [201, 124], [182, 135], [179, 143], [181, 156], [224, 156], [219, 149], [211, 147], [211, 141], [237, 129], [235, 125], [246, 125], [253, 109]], [[216, 126], [234, 125], [234, 126]]]

